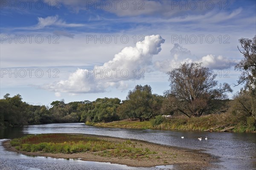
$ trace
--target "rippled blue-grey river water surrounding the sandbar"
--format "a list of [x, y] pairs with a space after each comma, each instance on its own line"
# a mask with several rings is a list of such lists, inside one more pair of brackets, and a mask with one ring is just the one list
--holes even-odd
[[[139, 139], [168, 146], [185, 147], [201, 150], [216, 156], [220, 161], [218, 170], [256, 170], [256, 134], [254, 133], [220, 133], [177, 130], [149, 130], [106, 128], [84, 125], [84, 123], [60, 123], [47, 125], [29, 125], [0, 131], [0, 139], [13, 139], [24, 134], [38, 133], [84, 133], [102, 136], [113, 136], [126, 139]], [[184, 139], [181, 139], [184, 136]], [[207, 140], [205, 140], [207, 136]], [[202, 141], [198, 138], [201, 137]], [[0, 145], [1, 170], [159, 170], [175, 169], [169, 167], [138, 168], [126, 165], [110, 164], [73, 159], [52, 159], [29, 157], [4, 150]], [[214, 170], [214, 169], [212, 169]]]

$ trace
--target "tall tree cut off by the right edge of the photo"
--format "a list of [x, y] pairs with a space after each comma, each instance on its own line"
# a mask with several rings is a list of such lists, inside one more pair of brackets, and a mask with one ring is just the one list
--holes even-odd
[[[246, 108], [252, 116], [256, 116], [256, 35], [252, 40], [241, 38], [239, 40], [241, 49], [237, 47], [244, 58], [235, 66], [236, 71], [241, 71], [238, 84], [245, 84], [245, 90], [250, 92], [250, 107]], [[241, 105], [247, 105], [240, 102]]]

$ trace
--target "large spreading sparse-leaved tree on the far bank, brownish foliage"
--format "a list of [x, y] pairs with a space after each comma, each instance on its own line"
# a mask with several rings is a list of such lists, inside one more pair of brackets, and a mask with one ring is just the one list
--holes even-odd
[[226, 93], [232, 92], [230, 85], [218, 84], [215, 80], [217, 74], [201, 64], [184, 63], [167, 73], [171, 89], [165, 92], [169, 101], [165, 102], [165, 108], [172, 108], [169, 112], [199, 117], [209, 111], [213, 99], [226, 99]]

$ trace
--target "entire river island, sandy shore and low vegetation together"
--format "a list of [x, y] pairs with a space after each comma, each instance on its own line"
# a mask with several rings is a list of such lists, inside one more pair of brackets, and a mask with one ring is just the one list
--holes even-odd
[[82, 134], [38, 134], [4, 142], [6, 150], [28, 156], [111, 162], [134, 167], [174, 164], [178, 169], [212, 166], [213, 158], [197, 150], [138, 140]]

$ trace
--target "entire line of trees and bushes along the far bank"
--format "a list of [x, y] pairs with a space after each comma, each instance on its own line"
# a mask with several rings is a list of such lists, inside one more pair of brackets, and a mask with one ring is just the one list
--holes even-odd
[[[148, 121], [157, 115], [183, 114], [200, 117], [212, 113], [230, 111], [233, 116], [246, 122], [254, 118], [256, 125], [256, 36], [241, 38], [239, 51], [244, 58], [235, 66], [241, 75], [236, 85], [244, 84], [233, 100], [227, 83], [218, 83], [217, 74], [202, 63], [183, 63], [167, 72], [170, 89], [164, 95], [152, 93], [150, 85], [136, 85], [125, 100], [118, 98], [96, 99], [65, 103], [54, 101], [51, 108], [29, 105], [19, 94], [0, 99], [0, 126], [16, 127], [29, 124], [61, 122], [111, 122], [120, 119]], [[250, 119], [251, 120], [251, 119]]]

